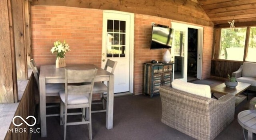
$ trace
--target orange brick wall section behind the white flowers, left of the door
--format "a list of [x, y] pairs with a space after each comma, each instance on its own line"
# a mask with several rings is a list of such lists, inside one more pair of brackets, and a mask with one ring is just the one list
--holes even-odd
[[50, 52], [60, 40], [70, 46], [66, 63], [101, 66], [102, 10], [65, 6], [31, 6], [32, 58], [36, 64], [54, 64]]

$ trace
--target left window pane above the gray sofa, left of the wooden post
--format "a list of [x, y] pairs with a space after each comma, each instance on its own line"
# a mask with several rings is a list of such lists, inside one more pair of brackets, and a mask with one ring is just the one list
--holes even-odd
[[243, 61], [246, 28], [221, 29], [219, 59]]

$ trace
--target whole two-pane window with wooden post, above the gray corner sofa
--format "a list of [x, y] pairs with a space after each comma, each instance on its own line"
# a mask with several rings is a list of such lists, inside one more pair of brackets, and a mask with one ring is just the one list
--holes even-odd
[[256, 62], [255, 54], [256, 27], [221, 29], [219, 59]]

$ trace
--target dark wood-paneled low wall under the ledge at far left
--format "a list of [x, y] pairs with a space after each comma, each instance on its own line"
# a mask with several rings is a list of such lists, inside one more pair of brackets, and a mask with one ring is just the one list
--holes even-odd
[[[21, 116], [22, 118], [26, 118], [30, 115], [34, 116], [35, 114], [35, 98], [34, 98], [34, 74], [32, 74], [30, 76], [30, 79], [28, 81], [28, 84], [26, 86], [26, 89], [24, 91], [24, 94], [20, 100], [20, 103], [18, 105], [18, 108], [14, 114], [14, 116]], [[20, 124], [20, 122], [22, 122], [22, 120], [20, 119], [15, 119], [16, 124]], [[32, 127], [28, 127], [25, 123], [19, 127], [14, 126], [12, 124], [12, 122], [10, 122], [10, 127], [9, 129], [11, 130], [12, 128], [22, 128], [22, 130], [24, 130], [24, 128], [26, 128], [27, 132], [6, 132], [6, 136], [4, 138], [4, 140], [30, 140], [31, 139], [31, 133], [29, 133], [29, 128]], [[29, 124], [33, 124], [34, 120], [33, 119], [28, 119], [28, 123]], [[35, 128], [36, 129], [36, 128]]]

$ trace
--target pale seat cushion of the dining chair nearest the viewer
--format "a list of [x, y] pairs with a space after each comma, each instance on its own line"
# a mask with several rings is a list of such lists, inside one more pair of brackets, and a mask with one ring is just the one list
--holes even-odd
[[[60, 99], [65, 103], [65, 90], [60, 91]], [[68, 104], [86, 104], [88, 103], [88, 97], [85, 94], [69, 94]]]

